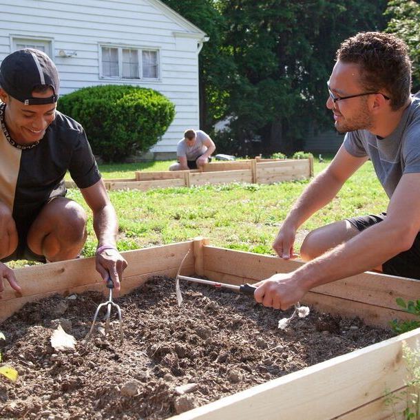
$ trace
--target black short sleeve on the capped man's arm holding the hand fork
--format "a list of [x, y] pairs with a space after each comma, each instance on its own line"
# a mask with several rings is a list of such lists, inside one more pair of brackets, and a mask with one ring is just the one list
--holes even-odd
[[98, 165], [83, 128], [78, 134], [72, 151], [69, 171], [78, 188], [92, 187], [101, 179]]

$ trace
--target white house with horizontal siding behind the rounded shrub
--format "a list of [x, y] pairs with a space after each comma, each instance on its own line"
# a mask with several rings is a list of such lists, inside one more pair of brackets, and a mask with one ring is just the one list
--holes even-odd
[[152, 149], [174, 154], [198, 127], [198, 54], [206, 34], [159, 0], [0, 0], [0, 61], [25, 47], [56, 63], [60, 94], [85, 86], [151, 87], [176, 106]]

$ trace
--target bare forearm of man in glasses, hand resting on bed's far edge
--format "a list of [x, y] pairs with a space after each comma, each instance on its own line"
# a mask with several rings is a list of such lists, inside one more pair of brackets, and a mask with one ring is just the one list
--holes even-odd
[[284, 224], [291, 225], [294, 229], [300, 227], [313, 213], [333, 200], [342, 185], [342, 182], [335, 180], [328, 174], [327, 169], [322, 171], [293, 204], [291, 211], [284, 220]]

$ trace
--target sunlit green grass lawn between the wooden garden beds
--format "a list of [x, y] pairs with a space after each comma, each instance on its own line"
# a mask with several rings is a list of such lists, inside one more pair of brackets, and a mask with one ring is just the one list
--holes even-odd
[[[328, 165], [315, 159], [315, 174]], [[166, 170], [170, 161], [143, 164], [101, 165], [104, 178], [134, 178], [134, 171]], [[211, 244], [256, 253], [271, 253], [271, 244], [282, 220], [308, 181], [275, 185], [212, 185], [149, 191], [109, 191], [116, 208], [120, 231], [118, 249], [143, 248], [189, 240], [198, 235]], [[69, 189], [69, 198], [87, 209], [81, 193]], [[304, 235], [323, 224], [342, 218], [386, 210], [388, 198], [367, 162], [339, 192], [338, 196], [310, 218], [297, 235], [298, 250]], [[96, 249], [92, 217], [83, 255]]]

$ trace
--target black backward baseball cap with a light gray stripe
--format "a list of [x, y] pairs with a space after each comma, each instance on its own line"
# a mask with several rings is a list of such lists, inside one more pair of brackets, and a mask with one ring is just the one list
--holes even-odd
[[[36, 86], [49, 86], [49, 98], [34, 98]], [[25, 48], [9, 54], [0, 66], [0, 87], [25, 105], [45, 105], [59, 100], [59, 72], [50, 57], [42, 51]]]

